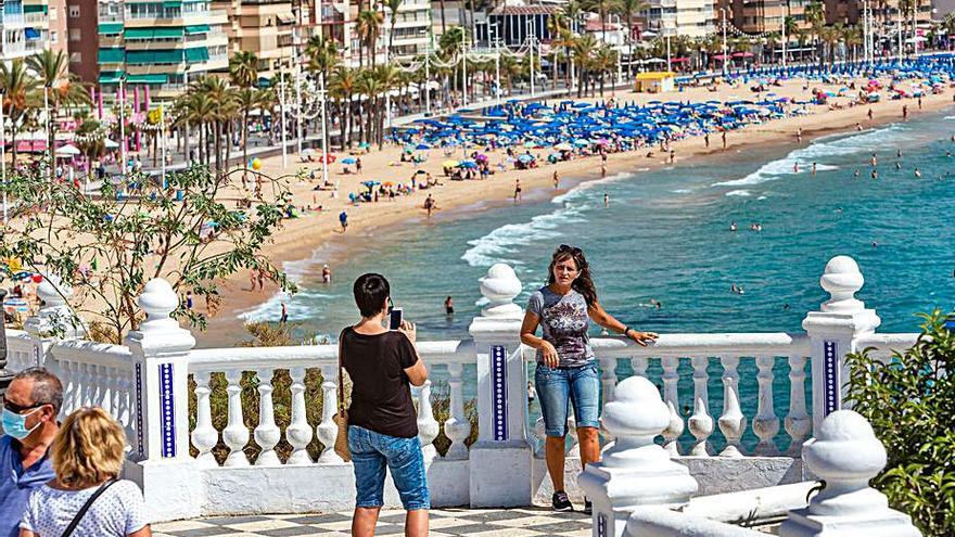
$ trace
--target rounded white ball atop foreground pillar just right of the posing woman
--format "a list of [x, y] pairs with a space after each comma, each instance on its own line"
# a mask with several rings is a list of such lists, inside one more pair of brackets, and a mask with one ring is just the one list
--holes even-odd
[[646, 444], [670, 426], [670, 409], [653, 383], [631, 376], [613, 389], [613, 400], [603, 406], [601, 419], [614, 437], [635, 437]]

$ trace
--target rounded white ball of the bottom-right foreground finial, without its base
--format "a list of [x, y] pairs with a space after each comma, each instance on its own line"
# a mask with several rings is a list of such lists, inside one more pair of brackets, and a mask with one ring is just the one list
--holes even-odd
[[884, 468], [886, 448], [865, 418], [837, 410], [823, 420], [816, 437], [803, 445], [802, 458], [827, 483], [864, 488]]

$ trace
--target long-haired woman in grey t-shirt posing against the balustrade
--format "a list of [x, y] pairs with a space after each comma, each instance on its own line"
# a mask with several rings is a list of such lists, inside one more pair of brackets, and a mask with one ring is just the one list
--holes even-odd
[[[593, 320], [644, 346], [654, 342], [657, 334], [637, 332], [603, 310], [581, 248], [562, 244], [555, 251], [547, 272], [547, 285], [534, 292], [527, 302], [521, 342], [537, 349], [534, 378], [547, 435], [547, 469], [555, 490], [551, 508], [570, 511], [573, 506], [564, 491], [563, 477], [571, 405], [582, 465], [600, 459], [600, 373], [590, 348], [588, 325]], [[535, 335], [538, 325], [543, 328], [543, 337]], [[589, 510], [590, 503], [585, 499], [584, 511]]]

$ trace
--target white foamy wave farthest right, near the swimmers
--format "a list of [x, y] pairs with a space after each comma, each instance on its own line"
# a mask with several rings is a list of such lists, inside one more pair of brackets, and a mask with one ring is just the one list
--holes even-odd
[[[785, 176], [795, 175], [794, 166], [797, 163], [800, 165], [800, 174], [806, 174], [812, 169], [812, 164], [822, 158], [855, 153], [870, 153], [873, 148], [886, 148], [893, 141], [901, 140], [904, 137], [905, 129], [900, 125], [892, 125], [883, 129], [842, 138], [818, 139], [806, 148], [794, 150], [782, 158], [764, 164], [760, 169], [741, 179], [714, 182], [711, 187], [750, 187], [766, 181], [775, 181]], [[837, 166], [822, 163], [816, 164], [817, 171], [831, 169], [837, 169]]]

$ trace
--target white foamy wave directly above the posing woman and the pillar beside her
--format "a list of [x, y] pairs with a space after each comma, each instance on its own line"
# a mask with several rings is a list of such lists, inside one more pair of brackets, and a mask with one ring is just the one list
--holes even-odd
[[563, 234], [569, 223], [584, 221], [578, 207], [566, 205], [552, 213], [537, 215], [523, 223], [507, 223], [486, 235], [468, 241], [471, 245], [461, 259], [472, 267], [489, 267], [495, 263], [522, 265], [522, 246], [549, 241]]

